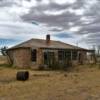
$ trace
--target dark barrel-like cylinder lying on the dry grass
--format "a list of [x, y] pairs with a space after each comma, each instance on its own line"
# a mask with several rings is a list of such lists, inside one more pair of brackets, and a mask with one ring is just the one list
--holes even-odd
[[29, 72], [28, 71], [19, 71], [17, 72], [16, 79], [20, 81], [25, 81], [29, 79]]

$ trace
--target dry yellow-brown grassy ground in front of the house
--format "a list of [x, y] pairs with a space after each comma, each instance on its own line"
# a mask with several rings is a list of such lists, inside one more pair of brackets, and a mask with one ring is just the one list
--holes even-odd
[[[21, 70], [21, 69], [20, 69]], [[81, 66], [73, 71], [33, 71], [16, 80], [19, 69], [0, 67], [0, 100], [100, 100], [100, 69]]]

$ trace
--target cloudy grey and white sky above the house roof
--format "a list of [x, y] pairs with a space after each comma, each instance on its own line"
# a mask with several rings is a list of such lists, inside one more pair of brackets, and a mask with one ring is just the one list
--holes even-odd
[[51, 38], [89, 47], [100, 42], [100, 0], [0, 0], [0, 46]]

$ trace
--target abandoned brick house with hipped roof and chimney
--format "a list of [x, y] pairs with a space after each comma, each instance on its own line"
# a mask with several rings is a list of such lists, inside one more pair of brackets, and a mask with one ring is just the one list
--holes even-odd
[[68, 65], [84, 64], [87, 61], [88, 50], [50, 40], [50, 35], [43, 39], [30, 39], [7, 50], [9, 63], [19, 68], [37, 69], [40, 65], [54, 63]]

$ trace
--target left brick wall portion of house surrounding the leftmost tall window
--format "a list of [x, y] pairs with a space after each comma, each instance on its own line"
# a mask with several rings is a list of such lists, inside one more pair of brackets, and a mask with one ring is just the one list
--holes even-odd
[[36, 62], [31, 61], [31, 49], [29, 48], [19, 48], [15, 50], [10, 50], [8, 52], [13, 66], [18, 68], [29, 68], [37, 69], [40, 64], [43, 64], [43, 53], [42, 49], [37, 50], [37, 60]]

